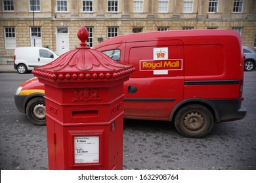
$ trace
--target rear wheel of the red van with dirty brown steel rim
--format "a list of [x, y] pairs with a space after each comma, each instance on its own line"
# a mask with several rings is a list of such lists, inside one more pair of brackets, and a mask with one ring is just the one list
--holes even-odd
[[204, 137], [211, 131], [213, 124], [213, 114], [202, 105], [187, 105], [175, 116], [175, 127], [184, 137]]

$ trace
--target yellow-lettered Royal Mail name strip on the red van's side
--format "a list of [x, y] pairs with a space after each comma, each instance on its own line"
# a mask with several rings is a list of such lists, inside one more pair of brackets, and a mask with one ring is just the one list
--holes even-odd
[[182, 59], [140, 60], [140, 71], [182, 70]]

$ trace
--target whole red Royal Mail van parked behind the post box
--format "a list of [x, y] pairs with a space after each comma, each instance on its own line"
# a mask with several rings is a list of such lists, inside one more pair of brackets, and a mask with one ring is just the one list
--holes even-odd
[[[166, 120], [185, 137], [203, 137], [214, 123], [246, 114], [241, 105], [242, 40], [236, 31], [135, 33], [100, 42], [94, 49], [136, 68], [124, 84], [125, 118]], [[35, 78], [14, 97], [18, 110], [35, 124], [45, 123], [42, 91]]]

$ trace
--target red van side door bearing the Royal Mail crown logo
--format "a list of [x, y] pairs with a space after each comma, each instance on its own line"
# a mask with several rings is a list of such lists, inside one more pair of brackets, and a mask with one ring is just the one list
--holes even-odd
[[136, 69], [124, 86], [125, 118], [168, 120], [183, 97], [182, 41], [127, 42], [125, 50], [124, 62]]

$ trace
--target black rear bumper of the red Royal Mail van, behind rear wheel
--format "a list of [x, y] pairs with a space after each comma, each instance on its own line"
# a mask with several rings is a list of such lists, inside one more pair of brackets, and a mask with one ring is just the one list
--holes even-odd
[[246, 115], [246, 108], [242, 99], [209, 100], [217, 112], [216, 122], [229, 122], [241, 120]]

